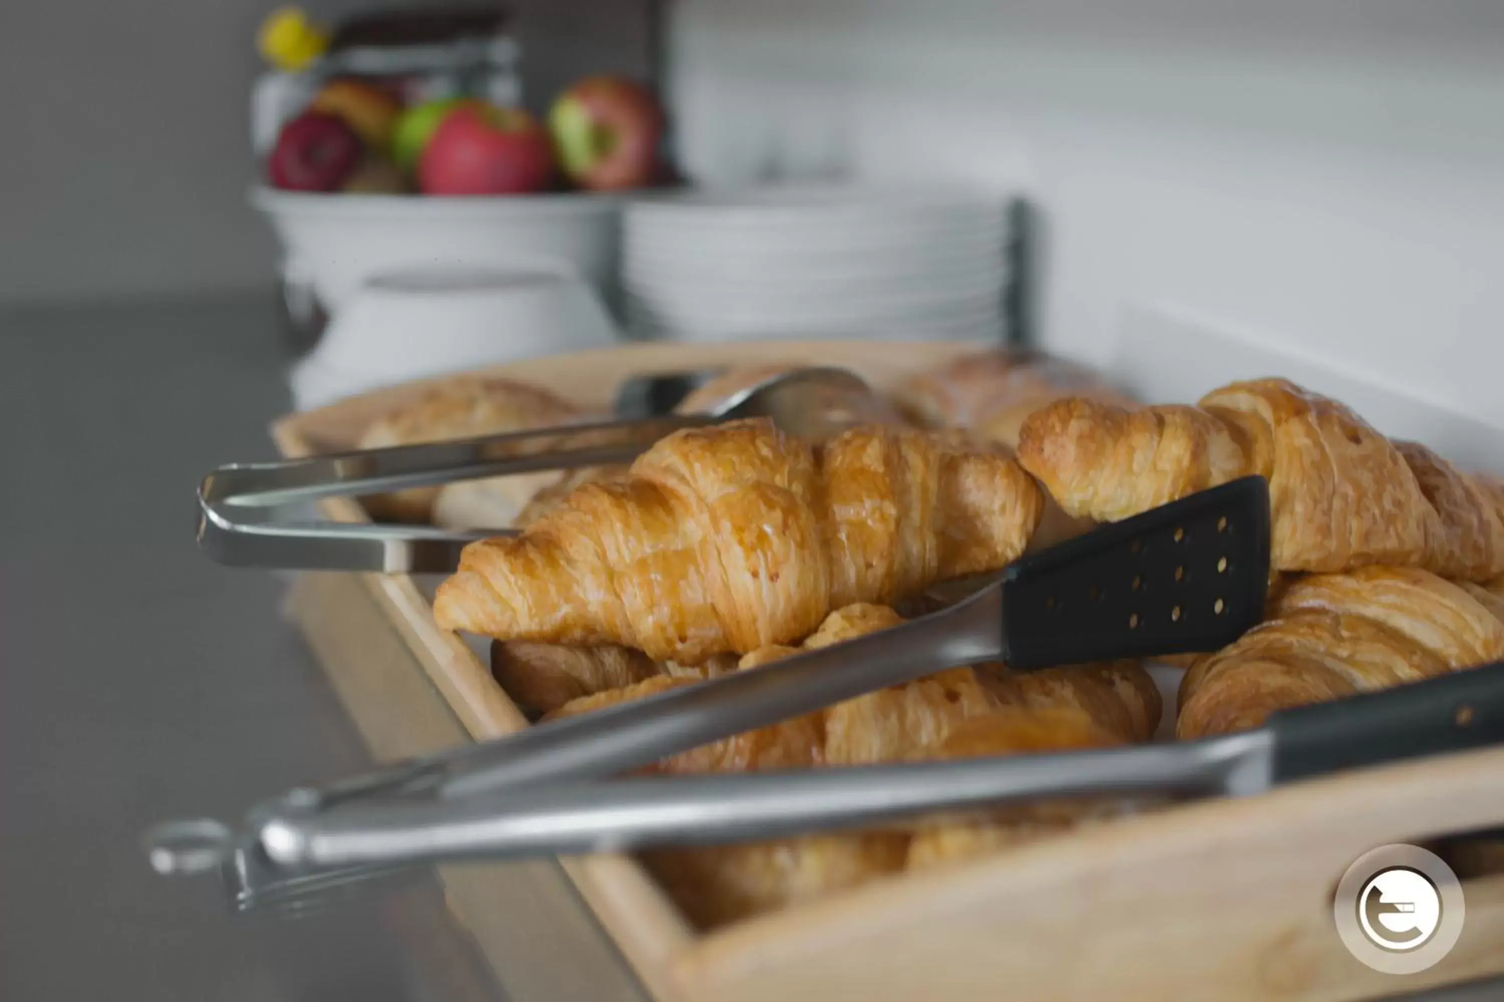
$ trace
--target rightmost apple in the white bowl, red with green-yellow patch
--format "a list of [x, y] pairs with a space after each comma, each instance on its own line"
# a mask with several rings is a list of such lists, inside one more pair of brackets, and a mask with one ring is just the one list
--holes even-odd
[[581, 188], [620, 191], [659, 177], [663, 108], [630, 80], [579, 81], [553, 102], [549, 132], [559, 165]]

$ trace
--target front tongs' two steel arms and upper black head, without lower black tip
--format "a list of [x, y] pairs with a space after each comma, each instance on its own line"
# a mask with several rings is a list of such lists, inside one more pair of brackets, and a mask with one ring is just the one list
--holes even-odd
[[241, 903], [253, 904], [368, 873], [340, 870], [349, 864], [760, 837], [1044, 793], [1251, 789], [1242, 768], [1250, 739], [672, 780], [681, 786], [558, 784], [620, 775], [954, 665], [1003, 659], [1033, 670], [1217, 649], [1262, 619], [1268, 568], [1268, 485], [1235, 481], [1026, 556], [970, 598], [892, 629], [323, 790], [293, 790], [253, 810], [239, 831], [217, 822], [161, 829], [153, 862], [164, 871], [224, 865]]

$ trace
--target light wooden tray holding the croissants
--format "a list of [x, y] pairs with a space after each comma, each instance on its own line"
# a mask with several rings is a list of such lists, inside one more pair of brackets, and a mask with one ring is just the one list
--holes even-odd
[[[966, 346], [778, 343], [630, 346], [493, 370], [600, 406], [630, 374], [735, 362], [821, 362], [889, 386]], [[433, 380], [430, 380], [432, 383]], [[429, 383], [352, 398], [274, 425], [289, 457], [350, 448], [376, 413]], [[323, 503], [359, 521], [350, 499]], [[358, 577], [417, 665], [477, 739], [526, 726], [487, 665], [439, 629], [420, 583]], [[316, 616], [316, 614], [314, 614]], [[310, 611], [301, 619], [308, 622]], [[316, 644], [317, 646], [317, 644]], [[349, 670], [341, 693], [359, 679]], [[400, 729], [370, 699], [346, 702], [370, 736]], [[1331, 895], [1346, 867], [1387, 843], [1504, 826], [1504, 750], [1456, 754], [1209, 801], [901, 874], [701, 934], [638, 864], [561, 861], [648, 991], [665, 1002], [769, 997], [1363, 999], [1504, 972], [1504, 874], [1465, 883], [1453, 952], [1420, 975], [1351, 957]], [[472, 879], [457, 867], [441, 877]], [[474, 900], [474, 895], [471, 895]], [[472, 907], [460, 919], [486, 948]]]

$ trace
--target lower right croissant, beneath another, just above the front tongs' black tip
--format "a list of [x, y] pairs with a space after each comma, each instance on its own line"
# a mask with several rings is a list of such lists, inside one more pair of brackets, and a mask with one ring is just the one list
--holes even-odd
[[1418, 682], [1504, 658], [1504, 602], [1420, 568], [1290, 581], [1272, 617], [1196, 661], [1176, 733], [1257, 727], [1274, 711]]

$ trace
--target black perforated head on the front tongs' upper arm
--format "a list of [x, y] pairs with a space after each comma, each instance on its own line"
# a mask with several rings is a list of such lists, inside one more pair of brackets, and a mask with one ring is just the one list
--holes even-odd
[[1214, 487], [1102, 526], [1003, 575], [1014, 669], [1217, 650], [1263, 617], [1269, 485]]

